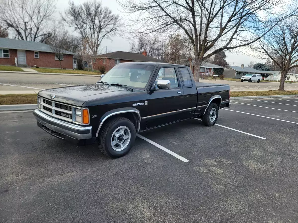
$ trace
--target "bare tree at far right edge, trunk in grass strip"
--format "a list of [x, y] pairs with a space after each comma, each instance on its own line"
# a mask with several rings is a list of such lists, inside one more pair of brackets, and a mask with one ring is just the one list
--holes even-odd
[[[278, 90], [284, 91], [289, 70], [298, 67], [298, 18], [292, 17], [278, 23], [268, 34], [252, 46], [263, 59], [271, 59], [281, 72]], [[265, 56], [262, 56], [265, 55]]]

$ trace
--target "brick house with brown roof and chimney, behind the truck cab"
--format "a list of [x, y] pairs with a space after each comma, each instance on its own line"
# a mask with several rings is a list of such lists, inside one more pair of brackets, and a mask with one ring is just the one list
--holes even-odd
[[142, 54], [125, 52], [125, 51], [115, 51], [107, 54], [98, 55], [94, 68], [98, 70], [100, 66], [105, 66], [105, 71], [109, 71], [111, 68], [113, 68], [115, 65], [119, 63], [134, 62], [134, 61], [165, 63], [162, 60], [147, 56], [146, 50], [144, 50]]

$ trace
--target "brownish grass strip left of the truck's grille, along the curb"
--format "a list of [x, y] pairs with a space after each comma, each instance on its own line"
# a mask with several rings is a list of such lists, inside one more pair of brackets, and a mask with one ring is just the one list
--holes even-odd
[[0, 105], [37, 104], [36, 94], [0, 95]]

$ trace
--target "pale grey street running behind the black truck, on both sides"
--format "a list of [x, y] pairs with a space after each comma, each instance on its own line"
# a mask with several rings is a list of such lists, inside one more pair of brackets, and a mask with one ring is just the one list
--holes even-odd
[[[69, 85], [94, 84], [100, 76], [75, 76], [75, 75], [51, 75], [51, 74], [27, 74], [27, 73], [4, 73], [0, 72], [0, 94], [7, 94], [7, 91], [39, 91]], [[201, 82], [214, 83], [212, 80], [202, 80]], [[229, 84], [231, 91], [268, 91], [277, 90], [277, 82], [240, 82], [240, 81], [216, 81], [220, 84]], [[3, 85], [9, 84], [9, 85]], [[13, 85], [13, 86], [10, 86]], [[22, 87], [20, 87], [22, 86]], [[298, 83], [285, 83], [285, 90], [298, 90]], [[26, 93], [26, 92], [24, 92]], [[34, 93], [34, 92], [33, 92]]]

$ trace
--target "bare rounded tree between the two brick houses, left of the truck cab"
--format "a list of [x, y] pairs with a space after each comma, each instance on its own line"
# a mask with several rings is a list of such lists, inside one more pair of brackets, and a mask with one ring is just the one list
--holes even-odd
[[[87, 1], [80, 5], [69, 2], [62, 20], [70, 27], [75, 28], [86, 41], [92, 51], [95, 61], [103, 39], [110, 39], [120, 32], [122, 22], [119, 15], [113, 14], [110, 9], [103, 7], [99, 1]], [[93, 63], [92, 63], [93, 71]]]

